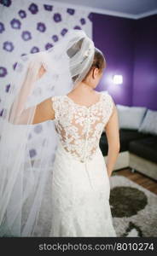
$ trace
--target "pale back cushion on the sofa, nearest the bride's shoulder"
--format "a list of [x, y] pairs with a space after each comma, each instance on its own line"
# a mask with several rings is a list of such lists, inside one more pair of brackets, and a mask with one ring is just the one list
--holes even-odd
[[145, 107], [116, 105], [119, 116], [119, 129], [138, 130], [147, 111]]

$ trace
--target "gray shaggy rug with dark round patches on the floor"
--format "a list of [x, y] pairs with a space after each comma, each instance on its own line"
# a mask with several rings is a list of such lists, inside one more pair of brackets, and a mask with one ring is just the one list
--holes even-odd
[[157, 195], [126, 177], [110, 177], [110, 207], [117, 236], [157, 237]]

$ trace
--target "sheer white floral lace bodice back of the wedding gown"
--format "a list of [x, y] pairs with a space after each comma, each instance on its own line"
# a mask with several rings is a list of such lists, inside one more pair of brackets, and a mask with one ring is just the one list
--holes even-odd
[[113, 110], [112, 96], [108, 91], [100, 92], [99, 101], [90, 107], [73, 102], [67, 95], [51, 99], [55, 110], [55, 131], [63, 148], [76, 160], [91, 160]]

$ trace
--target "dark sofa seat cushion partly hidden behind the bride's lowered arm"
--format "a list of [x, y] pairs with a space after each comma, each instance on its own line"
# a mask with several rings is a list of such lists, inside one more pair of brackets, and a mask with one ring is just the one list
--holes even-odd
[[[142, 132], [138, 132], [137, 130], [129, 130], [129, 129], [120, 129], [119, 130], [119, 138], [120, 138], [120, 151], [124, 152], [129, 150], [129, 143], [134, 140], [138, 140], [144, 137], [150, 137], [149, 134], [143, 134]], [[105, 131], [102, 132], [102, 137], [100, 139], [99, 146], [102, 150], [103, 155], [108, 154], [108, 140]]]

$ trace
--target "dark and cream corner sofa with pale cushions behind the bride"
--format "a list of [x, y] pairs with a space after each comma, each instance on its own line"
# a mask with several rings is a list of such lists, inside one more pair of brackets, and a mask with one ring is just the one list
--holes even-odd
[[[116, 107], [120, 150], [113, 171], [130, 167], [131, 172], [141, 172], [157, 180], [157, 111], [119, 104]], [[107, 161], [108, 140], [105, 129], [99, 146]]]

